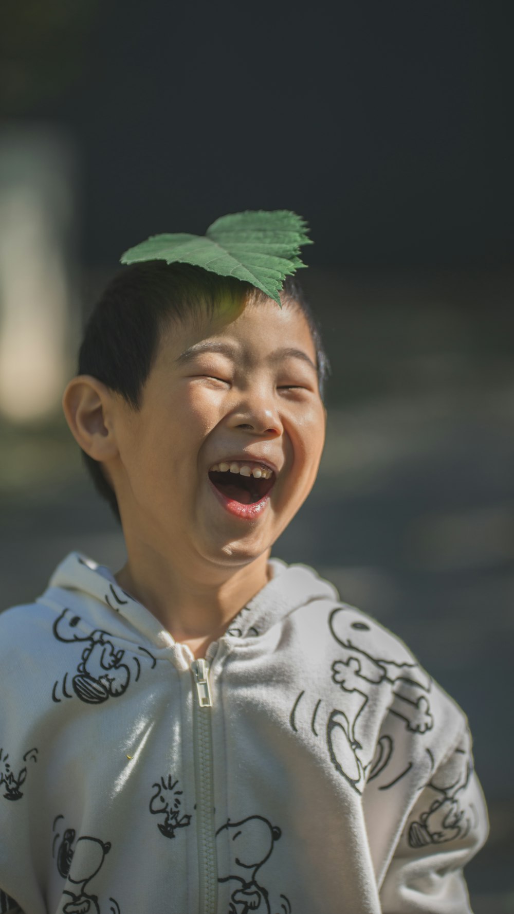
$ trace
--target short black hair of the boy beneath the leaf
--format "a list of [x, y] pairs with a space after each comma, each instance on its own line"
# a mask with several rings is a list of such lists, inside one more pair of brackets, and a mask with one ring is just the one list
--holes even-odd
[[[187, 263], [149, 260], [124, 267], [93, 307], [80, 345], [78, 374], [96, 377], [137, 411], [166, 327], [173, 320], [184, 323], [191, 314], [213, 314], [227, 296], [236, 302], [245, 299], [259, 303], [267, 298], [249, 282]], [[297, 307], [305, 315], [316, 347], [318, 387], [323, 399], [330, 365], [319, 324], [296, 278], [286, 278], [280, 297], [283, 304]], [[82, 458], [96, 491], [121, 524], [116, 495], [102, 471], [102, 462], [84, 451]]]

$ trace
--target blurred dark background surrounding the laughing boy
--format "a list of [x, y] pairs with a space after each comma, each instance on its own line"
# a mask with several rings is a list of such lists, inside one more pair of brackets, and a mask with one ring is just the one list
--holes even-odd
[[333, 373], [313, 494], [273, 547], [465, 709], [514, 911], [514, 6], [8, 0], [0, 28], [2, 608], [123, 540], [60, 415], [123, 250], [291, 208]]

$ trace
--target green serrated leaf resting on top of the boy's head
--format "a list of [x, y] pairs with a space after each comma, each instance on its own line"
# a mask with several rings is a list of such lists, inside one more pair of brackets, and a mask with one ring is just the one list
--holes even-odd
[[285, 277], [305, 267], [298, 255], [301, 245], [313, 243], [308, 230], [305, 219], [287, 209], [246, 210], [216, 219], [205, 236], [152, 235], [125, 250], [121, 261], [190, 263], [250, 282], [280, 304]]

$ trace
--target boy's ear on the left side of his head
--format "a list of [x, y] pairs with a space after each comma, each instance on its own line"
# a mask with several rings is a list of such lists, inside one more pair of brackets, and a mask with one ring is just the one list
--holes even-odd
[[114, 398], [102, 381], [91, 375], [72, 377], [62, 395], [62, 409], [82, 451], [102, 462], [116, 456]]

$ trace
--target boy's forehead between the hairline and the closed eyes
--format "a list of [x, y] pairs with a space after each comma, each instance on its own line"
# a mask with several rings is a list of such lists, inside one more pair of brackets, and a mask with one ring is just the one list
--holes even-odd
[[158, 360], [180, 367], [202, 353], [217, 351], [227, 356], [231, 351], [254, 362], [277, 351], [285, 358], [288, 350], [289, 355], [293, 350], [304, 353], [305, 364], [310, 360], [316, 368], [316, 345], [298, 305], [286, 303], [280, 308], [272, 299], [225, 300], [216, 304], [211, 314], [203, 308], [180, 322], [172, 320], [161, 337]]

